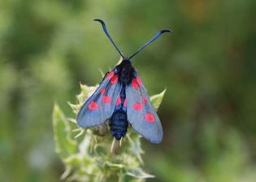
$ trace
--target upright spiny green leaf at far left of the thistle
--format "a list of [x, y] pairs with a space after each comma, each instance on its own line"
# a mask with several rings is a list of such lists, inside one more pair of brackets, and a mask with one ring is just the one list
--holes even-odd
[[72, 140], [72, 130], [69, 122], [57, 104], [54, 105], [53, 127], [55, 151], [64, 160], [71, 154], [76, 153], [77, 143]]

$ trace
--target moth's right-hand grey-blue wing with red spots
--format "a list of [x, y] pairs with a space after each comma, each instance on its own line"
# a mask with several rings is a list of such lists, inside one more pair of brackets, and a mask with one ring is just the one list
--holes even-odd
[[125, 89], [127, 98], [128, 122], [132, 128], [152, 143], [163, 139], [163, 128], [150, 97], [139, 76]]

